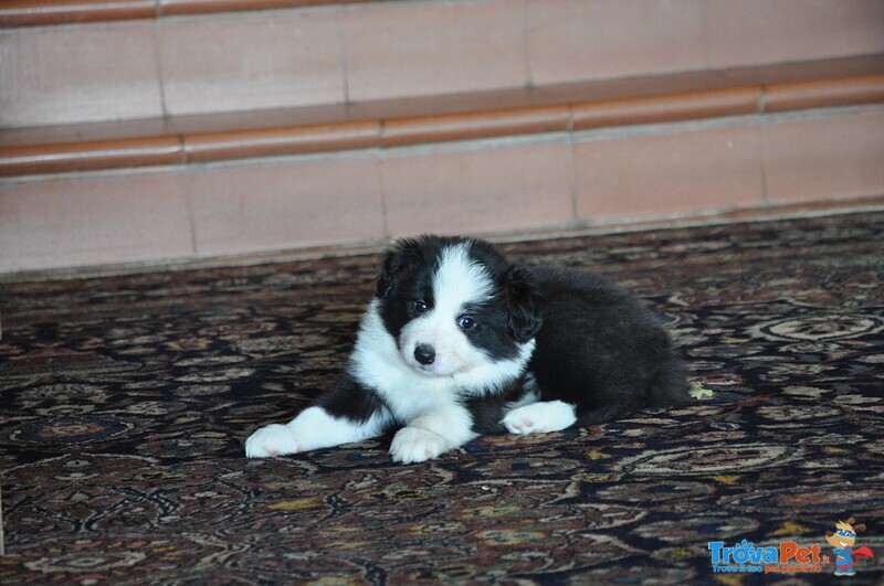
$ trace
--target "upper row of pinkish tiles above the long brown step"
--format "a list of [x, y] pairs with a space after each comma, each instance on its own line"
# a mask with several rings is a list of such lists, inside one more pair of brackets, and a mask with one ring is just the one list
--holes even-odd
[[0, 31], [0, 127], [884, 52], [876, 0], [452, 0]]

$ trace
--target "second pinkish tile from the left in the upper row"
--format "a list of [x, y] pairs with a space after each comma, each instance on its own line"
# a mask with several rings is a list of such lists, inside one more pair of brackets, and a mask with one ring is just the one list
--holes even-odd
[[340, 18], [297, 11], [160, 20], [169, 114], [344, 102]]

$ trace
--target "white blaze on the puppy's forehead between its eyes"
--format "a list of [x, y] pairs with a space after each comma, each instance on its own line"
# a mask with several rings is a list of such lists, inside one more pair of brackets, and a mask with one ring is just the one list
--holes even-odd
[[490, 299], [493, 289], [488, 271], [470, 257], [469, 242], [442, 251], [433, 277], [433, 309], [436, 312], [457, 313], [467, 303]]

